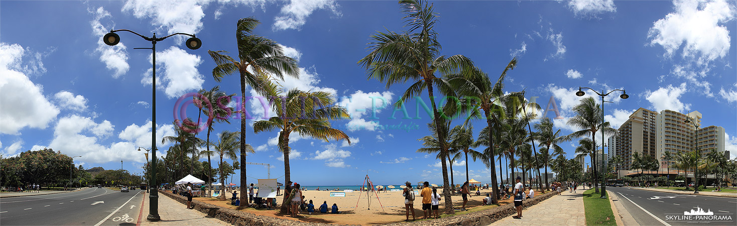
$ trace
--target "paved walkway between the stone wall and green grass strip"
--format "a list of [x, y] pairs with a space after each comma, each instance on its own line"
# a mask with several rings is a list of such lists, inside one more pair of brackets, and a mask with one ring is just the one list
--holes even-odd
[[[580, 188], [580, 187], [579, 187]], [[522, 225], [586, 225], [584, 214], [583, 189], [578, 193], [563, 191], [560, 195], [550, 197], [522, 211], [522, 219], [507, 216], [491, 225], [522, 226]], [[517, 216], [517, 214], [513, 215]]]

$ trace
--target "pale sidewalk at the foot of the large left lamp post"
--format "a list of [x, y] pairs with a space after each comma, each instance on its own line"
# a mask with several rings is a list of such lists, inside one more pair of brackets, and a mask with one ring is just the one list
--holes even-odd
[[219, 219], [214, 219], [200, 211], [189, 210], [186, 205], [174, 201], [163, 194], [158, 195], [158, 216], [161, 221], [148, 222], [146, 216], [149, 213], [148, 194], [144, 194], [144, 205], [138, 225], [229, 225]]

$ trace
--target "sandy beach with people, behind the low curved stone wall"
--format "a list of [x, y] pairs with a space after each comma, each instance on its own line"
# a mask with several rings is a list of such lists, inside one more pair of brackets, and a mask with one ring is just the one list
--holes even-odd
[[[318, 211], [320, 205], [323, 202], [327, 202], [328, 206], [332, 206], [333, 203], [338, 205], [340, 214], [332, 213], [312, 213], [308, 215], [306, 212], [301, 212], [299, 217], [300, 220], [307, 222], [321, 222], [337, 225], [380, 225], [392, 222], [402, 222], [405, 220], [405, 199], [402, 197], [402, 191], [381, 191], [374, 195], [367, 197], [367, 193], [354, 191], [346, 192], [345, 197], [331, 197], [331, 192], [343, 192], [343, 191], [303, 191], [304, 199], [309, 202], [312, 199], [312, 203], [315, 205], [315, 211]], [[438, 193], [441, 194], [442, 189], [438, 189]], [[479, 211], [483, 209], [492, 208], [491, 205], [481, 206], [482, 200], [486, 197], [486, 193], [491, 192], [490, 189], [482, 189], [481, 196], [476, 196], [475, 192], [469, 197], [467, 203], [467, 210], [464, 212], [457, 213], [469, 213], [472, 211]], [[378, 196], [378, 198], [377, 198]], [[230, 195], [228, 195], [230, 197]], [[277, 202], [282, 202], [283, 196], [277, 197]], [[207, 202], [214, 205], [226, 206], [231, 209], [236, 207], [229, 205], [230, 201], [216, 201], [208, 198], [195, 198], [196, 200]], [[370, 202], [368, 201], [370, 199]], [[458, 211], [463, 204], [460, 194], [456, 194], [452, 197], [453, 206]], [[415, 199], [415, 216], [416, 219], [422, 219], [422, 197], [419, 195]], [[510, 203], [509, 200], [500, 200], [501, 205]], [[279, 203], [281, 204], [281, 203]], [[439, 213], [442, 214], [444, 209], [444, 201], [440, 202]], [[282, 216], [278, 214], [278, 210], [267, 211], [257, 210], [254, 208], [245, 208], [242, 211], [249, 213], [255, 213], [263, 216], [274, 216], [283, 219], [294, 219], [290, 216]], [[319, 212], [319, 211], [318, 211]], [[412, 213], [410, 213], [410, 219], [412, 219]]]

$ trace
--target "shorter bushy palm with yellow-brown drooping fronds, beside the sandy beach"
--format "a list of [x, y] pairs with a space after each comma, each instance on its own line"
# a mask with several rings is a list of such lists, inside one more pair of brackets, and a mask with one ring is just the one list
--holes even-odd
[[[292, 133], [320, 139], [323, 141], [346, 140], [350, 138], [342, 130], [330, 126], [329, 120], [349, 119], [348, 110], [331, 104], [334, 102], [331, 93], [324, 91], [300, 91], [293, 89], [286, 96], [277, 96], [271, 100], [273, 110], [279, 116], [268, 120], [254, 122], [254, 133], [281, 130], [279, 132], [279, 151], [284, 154], [284, 181], [291, 183], [289, 154], [289, 137]], [[285, 183], [285, 184], [286, 184]], [[286, 203], [288, 196], [284, 196]], [[282, 205], [282, 213], [287, 212], [287, 205]]]

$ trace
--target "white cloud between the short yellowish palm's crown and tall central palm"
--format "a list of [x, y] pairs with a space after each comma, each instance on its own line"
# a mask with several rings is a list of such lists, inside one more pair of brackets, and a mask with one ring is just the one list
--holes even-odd
[[363, 116], [368, 115], [368, 117], [373, 117], [373, 112], [380, 113], [382, 109], [391, 107], [393, 95], [394, 93], [390, 91], [384, 91], [382, 93], [356, 91], [350, 96], [340, 99], [338, 105], [346, 107], [346, 110], [351, 115], [351, 121], [346, 124], [348, 130], [351, 132], [356, 130], [376, 130], [379, 125], [377, 121], [367, 121], [363, 119]]

